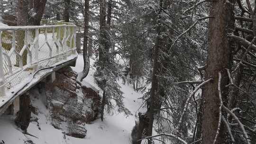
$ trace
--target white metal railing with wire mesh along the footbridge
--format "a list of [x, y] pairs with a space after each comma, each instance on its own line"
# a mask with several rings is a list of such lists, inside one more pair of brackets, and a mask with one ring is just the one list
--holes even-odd
[[34, 72], [76, 54], [76, 26], [0, 27], [0, 97]]

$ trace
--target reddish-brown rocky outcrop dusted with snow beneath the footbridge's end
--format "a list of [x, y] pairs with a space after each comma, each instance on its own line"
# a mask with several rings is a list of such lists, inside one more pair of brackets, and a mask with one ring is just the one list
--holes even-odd
[[100, 96], [91, 88], [76, 82], [77, 73], [70, 67], [56, 72], [54, 82], [46, 82], [46, 97], [52, 125], [66, 135], [83, 138], [86, 123], [95, 120], [99, 113]]

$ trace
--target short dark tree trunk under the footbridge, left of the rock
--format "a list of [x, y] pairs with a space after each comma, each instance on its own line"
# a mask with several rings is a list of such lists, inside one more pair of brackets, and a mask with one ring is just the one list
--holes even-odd
[[28, 94], [24, 94], [19, 98], [19, 112], [18, 112], [18, 116], [15, 119], [16, 126], [18, 126], [21, 130], [26, 132], [27, 127], [29, 126], [29, 123], [30, 123], [30, 117], [31, 117], [30, 97]]

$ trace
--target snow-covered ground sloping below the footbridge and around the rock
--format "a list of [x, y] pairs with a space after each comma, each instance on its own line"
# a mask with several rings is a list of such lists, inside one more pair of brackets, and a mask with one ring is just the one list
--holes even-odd
[[[93, 59], [91, 59], [91, 65]], [[79, 55], [76, 67], [73, 68], [76, 72], [81, 72], [83, 67], [82, 55]], [[97, 84], [93, 79], [95, 69], [91, 66], [88, 76], [82, 81], [82, 84], [94, 87], [99, 90]], [[138, 98], [142, 96], [141, 93], [133, 90], [132, 86], [123, 85], [119, 81], [121, 90], [124, 92], [124, 103], [126, 107], [133, 113], [133, 116], [126, 117], [123, 114], [114, 112], [113, 115], [106, 114], [102, 122], [97, 119], [92, 124], [87, 124], [87, 136], [84, 139], [78, 139], [66, 136], [61, 130], [55, 129], [48, 119], [48, 111], [40, 99], [34, 99], [33, 103], [39, 108], [38, 123], [41, 130], [38, 129], [36, 122], [31, 122], [27, 132], [35, 135], [38, 138], [24, 135], [14, 124], [14, 117], [2, 116], [0, 117], [0, 143], [4, 141], [5, 144], [131, 144], [130, 133], [135, 124], [135, 114], [140, 108], [142, 101]], [[37, 94], [37, 92], [34, 92]], [[140, 108], [140, 111], [145, 109]], [[33, 143], [29, 143], [29, 140]]]

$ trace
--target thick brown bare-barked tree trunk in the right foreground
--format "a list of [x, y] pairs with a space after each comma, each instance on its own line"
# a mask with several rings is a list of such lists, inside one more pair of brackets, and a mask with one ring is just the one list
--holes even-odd
[[[212, 82], [204, 86], [203, 98], [204, 108], [202, 117], [202, 144], [212, 144], [215, 140], [219, 124], [219, 93], [218, 93], [218, 73], [221, 72], [221, 92], [224, 105], [228, 102], [229, 77], [226, 68], [230, 69], [232, 62], [231, 43], [228, 33], [234, 29], [234, 5], [235, 0], [215, 0], [211, 2], [209, 23], [209, 55], [207, 60], [205, 79], [213, 79]], [[231, 3], [232, 2], [232, 3]], [[224, 144], [225, 135], [223, 126], [220, 126], [219, 136], [215, 144]]]

